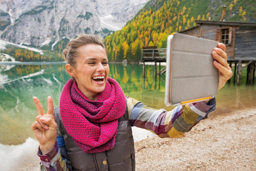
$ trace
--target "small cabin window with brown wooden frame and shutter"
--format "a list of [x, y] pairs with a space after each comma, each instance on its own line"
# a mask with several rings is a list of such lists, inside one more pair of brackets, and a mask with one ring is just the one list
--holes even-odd
[[217, 30], [216, 40], [226, 45], [231, 45], [232, 27], [225, 27]]

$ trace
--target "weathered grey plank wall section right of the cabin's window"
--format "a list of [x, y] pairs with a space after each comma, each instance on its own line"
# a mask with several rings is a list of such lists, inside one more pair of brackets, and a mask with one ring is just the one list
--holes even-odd
[[256, 27], [235, 28], [234, 58], [256, 59]]

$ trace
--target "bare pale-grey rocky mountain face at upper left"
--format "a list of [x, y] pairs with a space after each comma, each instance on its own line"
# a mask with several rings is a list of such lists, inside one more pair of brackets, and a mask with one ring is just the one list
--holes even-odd
[[61, 47], [63, 41], [84, 32], [103, 38], [120, 30], [147, 1], [2, 0], [0, 36], [8, 42], [44, 49], [56, 44]]

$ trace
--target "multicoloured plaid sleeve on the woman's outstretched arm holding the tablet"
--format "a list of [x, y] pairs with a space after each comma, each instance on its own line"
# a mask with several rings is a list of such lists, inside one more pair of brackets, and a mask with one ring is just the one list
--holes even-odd
[[140, 101], [127, 97], [127, 107], [132, 127], [147, 129], [161, 138], [181, 137], [214, 111], [216, 99], [211, 99], [208, 104], [200, 101], [178, 105], [172, 111], [165, 111], [150, 108]]

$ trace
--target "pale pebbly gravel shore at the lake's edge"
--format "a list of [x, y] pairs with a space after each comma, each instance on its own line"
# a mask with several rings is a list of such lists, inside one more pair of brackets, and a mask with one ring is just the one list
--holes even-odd
[[[136, 170], [256, 170], [256, 108], [210, 116], [178, 139], [135, 143]], [[39, 160], [17, 169], [37, 171]]]

